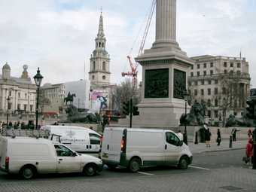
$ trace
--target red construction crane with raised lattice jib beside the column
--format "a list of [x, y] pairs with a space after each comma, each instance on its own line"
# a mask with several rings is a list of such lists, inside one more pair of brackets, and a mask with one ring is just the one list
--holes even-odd
[[[142, 42], [141, 42], [140, 47], [139, 47], [138, 56], [142, 55], [142, 53], [143, 53], [143, 49], [144, 49], [144, 46], [145, 46], [145, 41], [146, 41], [147, 36], [148, 36], [149, 27], [151, 26], [151, 20], [152, 20], [153, 14], [154, 14], [154, 9], [156, 7], [156, 4], [157, 4], [156, 0], [153, 0], [152, 4], [151, 4], [149, 15], [148, 15], [148, 20], [147, 20], [147, 24], [146, 24], [146, 27], [145, 27], [145, 32], [143, 34]], [[123, 77], [124, 76], [133, 77], [133, 89], [135, 89], [135, 88], [137, 88], [137, 74], [138, 74], [137, 68], [139, 66], [139, 62], [133, 62], [132, 59], [131, 59], [131, 56], [127, 56], [127, 58], [128, 58], [129, 63], [130, 63], [131, 71], [130, 72], [122, 72], [122, 76]]]

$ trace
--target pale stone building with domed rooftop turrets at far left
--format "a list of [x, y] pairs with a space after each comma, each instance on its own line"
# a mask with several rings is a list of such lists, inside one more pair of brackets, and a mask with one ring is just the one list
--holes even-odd
[[[10, 119], [15, 120], [22, 115], [34, 117], [36, 86], [32, 83], [27, 72], [28, 66], [23, 66], [23, 74], [20, 78], [11, 77], [11, 67], [8, 63], [2, 67], [0, 78], [0, 114], [1, 120], [5, 120], [7, 111]], [[9, 101], [8, 101], [9, 99]], [[8, 110], [9, 108], [9, 110]]]

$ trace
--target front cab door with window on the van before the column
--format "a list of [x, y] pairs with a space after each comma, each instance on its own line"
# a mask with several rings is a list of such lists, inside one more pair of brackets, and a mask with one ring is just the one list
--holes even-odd
[[178, 163], [178, 157], [182, 148], [179, 146], [180, 139], [172, 132], [166, 132], [165, 162], [167, 165]]

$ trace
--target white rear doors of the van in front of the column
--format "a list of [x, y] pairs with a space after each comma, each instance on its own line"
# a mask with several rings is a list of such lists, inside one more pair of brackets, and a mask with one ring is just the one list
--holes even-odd
[[102, 141], [102, 160], [112, 163], [120, 162], [121, 140], [124, 129], [107, 128]]

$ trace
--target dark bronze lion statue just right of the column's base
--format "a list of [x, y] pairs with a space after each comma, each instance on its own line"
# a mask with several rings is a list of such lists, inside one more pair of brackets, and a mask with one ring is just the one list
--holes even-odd
[[185, 115], [182, 114], [180, 118], [180, 123], [184, 125], [200, 125], [202, 126], [205, 123], [205, 111], [206, 105], [201, 105], [199, 102], [195, 102], [190, 109], [190, 113]]

